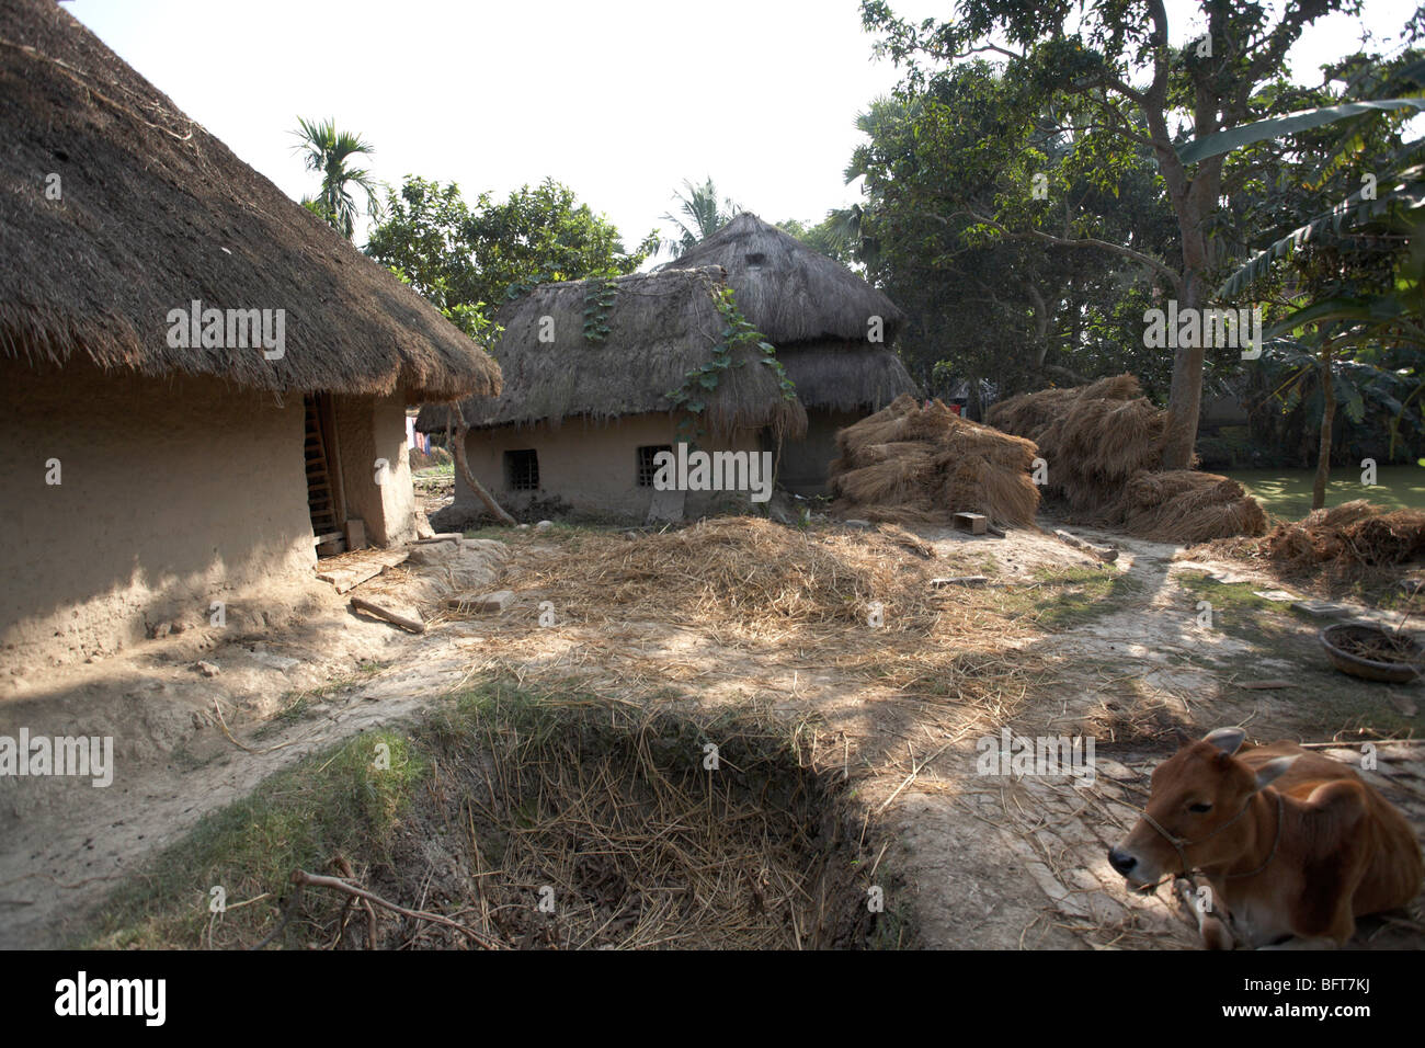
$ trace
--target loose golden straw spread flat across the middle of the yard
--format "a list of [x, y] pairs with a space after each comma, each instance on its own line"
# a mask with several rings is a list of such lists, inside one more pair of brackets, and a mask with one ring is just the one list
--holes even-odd
[[1045, 673], [1036, 653], [1016, 647], [1033, 636], [1030, 616], [1007, 607], [999, 590], [929, 585], [978, 570], [972, 552], [929, 559], [893, 525], [799, 530], [715, 518], [633, 540], [564, 529], [524, 536], [512, 539], [530, 545], [516, 555], [516, 599], [530, 609], [549, 600], [561, 636], [579, 637], [567, 659], [550, 659], [549, 630], [533, 612], [482, 616], [486, 669], [524, 680], [539, 664], [551, 677], [593, 673], [589, 687], [610, 696], [708, 689], [707, 667], [684, 649], [698, 636], [717, 644], [720, 662], [731, 660], [725, 672], [740, 690], [781, 693], [795, 670], [805, 682], [817, 663], [956, 719], [978, 709], [1000, 723]]

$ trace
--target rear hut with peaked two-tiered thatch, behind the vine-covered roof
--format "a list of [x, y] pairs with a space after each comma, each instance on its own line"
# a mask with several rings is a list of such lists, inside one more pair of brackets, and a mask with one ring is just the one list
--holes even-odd
[[[664, 271], [721, 265], [742, 314], [777, 346], [808, 409], [876, 411], [915, 382], [888, 346], [905, 314], [839, 262], [744, 211]], [[871, 318], [882, 342], [869, 342]]]

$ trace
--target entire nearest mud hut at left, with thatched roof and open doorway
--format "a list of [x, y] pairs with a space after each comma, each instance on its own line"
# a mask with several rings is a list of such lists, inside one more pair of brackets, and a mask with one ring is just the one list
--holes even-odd
[[0, 4], [0, 679], [415, 536], [405, 405], [499, 394], [475, 342], [54, 0]]

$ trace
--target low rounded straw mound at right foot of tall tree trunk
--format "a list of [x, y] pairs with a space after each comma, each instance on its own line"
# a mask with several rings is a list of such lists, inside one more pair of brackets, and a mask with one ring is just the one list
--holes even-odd
[[1129, 535], [1154, 542], [1208, 542], [1267, 530], [1267, 513], [1240, 483], [1194, 469], [1134, 473], [1112, 513]]

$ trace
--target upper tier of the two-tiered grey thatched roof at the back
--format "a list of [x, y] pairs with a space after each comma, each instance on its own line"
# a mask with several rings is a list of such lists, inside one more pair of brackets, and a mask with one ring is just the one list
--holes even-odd
[[663, 269], [704, 265], [727, 269], [742, 314], [778, 349], [821, 341], [871, 348], [871, 317], [885, 322], [886, 344], [905, 321], [895, 302], [851, 269], [748, 211]]

